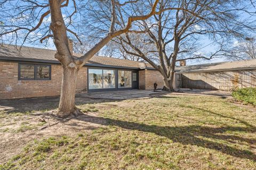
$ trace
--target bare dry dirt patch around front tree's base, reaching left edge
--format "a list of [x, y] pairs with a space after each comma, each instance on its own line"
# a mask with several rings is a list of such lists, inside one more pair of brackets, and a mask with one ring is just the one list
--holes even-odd
[[[37, 112], [31, 115], [7, 115], [1, 120], [0, 163], [4, 163], [17, 155], [23, 147], [36, 139], [60, 137], [62, 135], [72, 137], [77, 133], [86, 133], [87, 130], [97, 129], [102, 126], [101, 124], [105, 124], [99, 122], [102, 120], [99, 120], [98, 123], [97, 120], [90, 121], [88, 116], [95, 119], [97, 113], [86, 113], [86, 115], [80, 115], [79, 118], [72, 118], [68, 121], [60, 121], [47, 114], [47, 112]], [[85, 121], [86, 119], [89, 121]], [[51, 126], [44, 128], [48, 124]], [[22, 127], [25, 128], [22, 129]]]

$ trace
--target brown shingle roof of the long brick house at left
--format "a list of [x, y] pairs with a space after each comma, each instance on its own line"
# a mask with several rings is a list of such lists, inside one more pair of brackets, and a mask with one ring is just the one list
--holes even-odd
[[[20, 46], [17, 46], [18, 49]], [[44, 63], [60, 63], [54, 54], [56, 50], [43, 49], [35, 47], [23, 46], [20, 50], [13, 45], [3, 44], [0, 46], [0, 59], [14, 60], [14, 61], [30, 61], [30, 62], [44, 62]], [[74, 56], [82, 56], [83, 54], [74, 53]], [[119, 67], [127, 69], [153, 69], [148, 63], [122, 60], [113, 57], [93, 56], [86, 66], [101, 66], [101, 67]]]

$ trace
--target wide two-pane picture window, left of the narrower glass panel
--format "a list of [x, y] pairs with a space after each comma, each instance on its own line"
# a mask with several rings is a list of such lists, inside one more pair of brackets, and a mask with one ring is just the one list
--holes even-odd
[[102, 70], [102, 69], [89, 69], [88, 80], [89, 80], [89, 90], [115, 88], [115, 71]]

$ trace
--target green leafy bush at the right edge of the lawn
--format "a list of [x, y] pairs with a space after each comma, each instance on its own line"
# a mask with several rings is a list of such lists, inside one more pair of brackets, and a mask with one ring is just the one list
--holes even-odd
[[241, 88], [232, 92], [232, 96], [245, 104], [256, 106], [256, 88]]

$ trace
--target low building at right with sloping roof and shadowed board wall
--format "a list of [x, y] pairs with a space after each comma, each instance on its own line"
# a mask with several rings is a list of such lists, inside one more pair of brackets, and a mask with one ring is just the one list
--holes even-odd
[[182, 66], [175, 72], [178, 88], [229, 91], [256, 87], [256, 60]]

